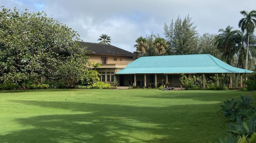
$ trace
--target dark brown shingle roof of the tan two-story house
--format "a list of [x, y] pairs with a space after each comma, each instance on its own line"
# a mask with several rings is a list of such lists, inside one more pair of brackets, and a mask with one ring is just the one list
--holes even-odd
[[106, 55], [120, 55], [120, 56], [133, 56], [133, 53], [117, 48], [113, 45], [99, 44], [91, 42], [79, 41], [82, 45], [87, 46], [91, 54], [106, 54]]

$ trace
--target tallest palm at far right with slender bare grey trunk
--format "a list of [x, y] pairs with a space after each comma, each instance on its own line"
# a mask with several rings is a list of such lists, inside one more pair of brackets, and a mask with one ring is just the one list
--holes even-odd
[[240, 13], [244, 16], [239, 23], [238, 27], [241, 28], [242, 32], [245, 32], [246, 35], [246, 58], [245, 58], [245, 70], [248, 69], [248, 54], [249, 54], [249, 34], [253, 33], [256, 26], [256, 10], [252, 10], [250, 12], [246, 10], [240, 11]]

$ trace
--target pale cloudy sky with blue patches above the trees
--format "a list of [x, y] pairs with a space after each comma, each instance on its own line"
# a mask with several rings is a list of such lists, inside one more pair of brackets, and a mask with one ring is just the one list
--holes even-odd
[[48, 16], [68, 25], [86, 42], [98, 42], [101, 34], [111, 44], [133, 52], [139, 36], [163, 35], [164, 23], [187, 14], [203, 33], [218, 33], [220, 28], [238, 29], [241, 10], [256, 9], [256, 0], [0, 0], [6, 8], [20, 11], [45, 11]]

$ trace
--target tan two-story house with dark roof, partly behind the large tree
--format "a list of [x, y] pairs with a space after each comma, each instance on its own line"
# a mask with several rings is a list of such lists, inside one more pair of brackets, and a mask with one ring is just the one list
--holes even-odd
[[115, 76], [114, 73], [124, 69], [128, 63], [132, 62], [134, 53], [108, 44], [91, 42], [81, 42], [81, 44], [88, 47], [90, 62], [101, 63], [101, 67], [96, 68], [96, 71], [100, 73], [100, 81], [111, 84], [117, 81], [120, 86], [128, 84], [124, 83], [124, 76]]

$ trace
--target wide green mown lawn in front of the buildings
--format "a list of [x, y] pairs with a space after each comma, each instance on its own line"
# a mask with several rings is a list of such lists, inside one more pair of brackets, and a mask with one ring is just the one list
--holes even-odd
[[214, 143], [220, 105], [246, 91], [42, 89], [0, 91], [0, 142]]

